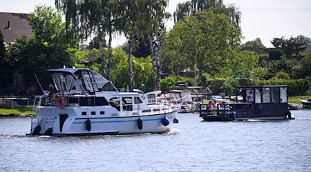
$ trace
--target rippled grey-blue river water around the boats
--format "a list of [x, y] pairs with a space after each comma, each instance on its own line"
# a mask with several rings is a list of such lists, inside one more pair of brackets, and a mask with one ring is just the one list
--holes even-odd
[[202, 122], [178, 114], [164, 134], [25, 136], [0, 118], [0, 171], [311, 171], [311, 110], [296, 120]]

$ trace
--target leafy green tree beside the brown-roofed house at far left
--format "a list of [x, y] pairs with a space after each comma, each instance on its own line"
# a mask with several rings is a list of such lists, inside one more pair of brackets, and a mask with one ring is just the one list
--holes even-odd
[[[25, 85], [19, 88], [20, 91], [25, 91], [32, 85], [36, 71], [73, 66], [73, 58], [68, 52], [69, 44], [64, 36], [66, 33], [62, 17], [51, 7], [37, 6], [29, 19], [33, 39], [19, 39], [8, 47], [14, 85]], [[20, 78], [23, 82], [18, 81]]]

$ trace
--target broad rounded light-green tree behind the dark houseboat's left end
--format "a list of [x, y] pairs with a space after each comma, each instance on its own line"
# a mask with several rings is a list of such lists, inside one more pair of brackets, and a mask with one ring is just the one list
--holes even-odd
[[189, 67], [196, 68], [194, 63], [198, 64], [200, 85], [203, 72], [216, 76], [233, 65], [232, 59], [236, 58], [234, 52], [241, 39], [241, 31], [232, 25], [228, 17], [214, 14], [211, 10], [198, 12], [193, 17], [184, 17], [171, 32], [169, 36], [174, 36], [172, 42], [178, 45], [167, 47], [178, 48], [176, 55], [184, 56], [181, 57], [182, 60], [187, 60], [182, 63]]

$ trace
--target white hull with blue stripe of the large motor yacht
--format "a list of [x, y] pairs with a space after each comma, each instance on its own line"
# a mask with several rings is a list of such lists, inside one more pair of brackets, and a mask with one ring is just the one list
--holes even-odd
[[[89, 109], [92, 111], [91, 109]], [[32, 120], [32, 132], [40, 126], [38, 135], [92, 136], [138, 133], [164, 133], [173, 124], [178, 109], [166, 114], [143, 116], [79, 116], [75, 109], [39, 108], [41, 116]], [[95, 111], [95, 110], [94, 110]], [[55, 115], [57, 114], [57, 115]], [[167, 118], [169, 125], [162, 120]], [[140, 122], [139, 122], [140, 121]], [[166, 125], [166, 126], [165, 126]], [[52, 132], [50, 132], [52, 130]]]

